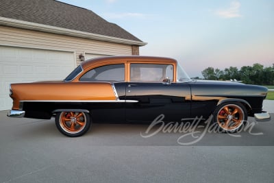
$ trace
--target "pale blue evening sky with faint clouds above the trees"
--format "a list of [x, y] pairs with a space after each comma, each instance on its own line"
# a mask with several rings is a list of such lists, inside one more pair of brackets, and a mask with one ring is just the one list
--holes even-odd
[[141, 56], [175, 58], [190, 77], [209, 66], [274, 64], [273, 0], [59, 0], [92, 10], [143, 42]]

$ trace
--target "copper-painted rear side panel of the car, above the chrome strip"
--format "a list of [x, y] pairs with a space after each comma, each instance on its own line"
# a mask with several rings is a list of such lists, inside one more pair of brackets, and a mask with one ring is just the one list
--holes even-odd
[[20, 101], [115, 100], [110, 83], [30, 83], [12, 84], [13, 110]]

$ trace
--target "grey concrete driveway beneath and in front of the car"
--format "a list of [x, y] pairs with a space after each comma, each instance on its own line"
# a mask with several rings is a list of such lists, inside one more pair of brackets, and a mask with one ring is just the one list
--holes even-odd
[[[264, 107], [274, 113], [274, 101], [265, 101]], [[149, 125], [93, 124], [84, 136], [68, 138], [54, 119], [5, 115], [0, 113], [0, 182], [274, 180], [273, 114], [269, 122], [249, 118], [251, 131], [234, 136], [208, 131], [201, 136], [205, 127], [199, 127], [197, 134], [161, 131], [147, 138], [142, 136]]]

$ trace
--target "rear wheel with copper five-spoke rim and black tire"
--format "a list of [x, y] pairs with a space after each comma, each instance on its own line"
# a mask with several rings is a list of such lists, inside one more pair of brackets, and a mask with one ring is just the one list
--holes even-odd
[[82, 136], [90, 128], [90, 114], [86, 112], [58, 112], [55, 117], [55, 125], [65, 136]]

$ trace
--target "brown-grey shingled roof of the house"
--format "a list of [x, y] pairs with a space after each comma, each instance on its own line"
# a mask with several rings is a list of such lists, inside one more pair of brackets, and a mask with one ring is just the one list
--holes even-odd
[[125, 29], [105, 21], [91, 10], [60, 1], [0, 0], [0, 16], [142, 42]]

